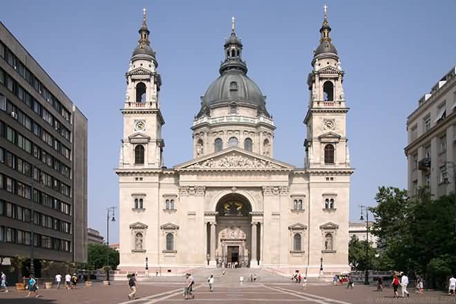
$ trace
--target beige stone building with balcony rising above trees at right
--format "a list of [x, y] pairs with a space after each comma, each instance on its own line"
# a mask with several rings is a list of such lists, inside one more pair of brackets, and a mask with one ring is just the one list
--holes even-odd
[[[456, 189], [456, 66], [418, 101], [408, 116], [408, 191], [429, 187], [434, 196]], [[448, 172], [449, 171], [449, 172]]]

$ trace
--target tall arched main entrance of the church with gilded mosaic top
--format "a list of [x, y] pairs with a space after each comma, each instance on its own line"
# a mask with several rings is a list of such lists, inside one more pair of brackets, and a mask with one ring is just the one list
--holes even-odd
[[248, 267], [251, 258], [251, 205], [238, 193], [223, 196], [216, 205], [218, 266]]

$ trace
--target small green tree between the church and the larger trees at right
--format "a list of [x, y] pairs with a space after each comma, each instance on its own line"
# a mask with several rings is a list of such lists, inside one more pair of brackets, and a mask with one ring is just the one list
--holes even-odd
[[[365, 254], [365, 246], [368, 245], [368, 255]], [[375, 249], [367, 240], [359, 240], [357, 236], [352, 236], [348, 243], [348, 263], [355, 270], [365, 270], [366, 267], [372, 269], [375, 258]]]

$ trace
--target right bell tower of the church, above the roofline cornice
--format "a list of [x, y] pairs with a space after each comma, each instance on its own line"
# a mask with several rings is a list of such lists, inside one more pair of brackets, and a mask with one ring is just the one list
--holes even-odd
[[320, 45], [314, 50], [312, 72], [307, 77], [310, 102], [304, 120], [307, 126], [305, 167], [349, 168], [345, 124], [349, 108], [343, 93], [344, 72], [330, 37], [327, 7], [324, 8]]

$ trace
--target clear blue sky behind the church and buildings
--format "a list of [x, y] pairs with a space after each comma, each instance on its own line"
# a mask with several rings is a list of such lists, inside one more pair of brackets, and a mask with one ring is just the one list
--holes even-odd
[[[3, 1], [1, 21], [88, 117], [88, 223], [106, 236], [118, 204], [125, 77], [142, 8], [163, 85], [164, 160], [191, 159], [189, 127], [200, 95], [218, 77], [236, 16], [249, 77], [267, 95], [277, 126], [274, 156], [303, 167], [309, 93], [323, 4], [345, 70], [352, 166], [350, 219], [379, 185], [406, 187], [406, 117], [456, 64], [456, 1]], [[111, 226], [111, 243], [117, 241]]]

